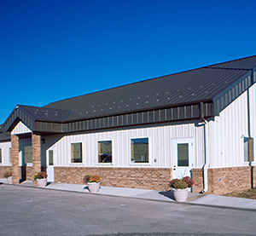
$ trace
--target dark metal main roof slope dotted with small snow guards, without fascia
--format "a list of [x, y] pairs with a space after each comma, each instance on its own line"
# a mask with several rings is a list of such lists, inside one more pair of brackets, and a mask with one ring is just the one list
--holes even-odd
[[44, 107], [73, 110], [67, 121], [135, 112], [196, 101], [212, 101], [224, 89], [250, 74], [256, 56], [148, 79]]

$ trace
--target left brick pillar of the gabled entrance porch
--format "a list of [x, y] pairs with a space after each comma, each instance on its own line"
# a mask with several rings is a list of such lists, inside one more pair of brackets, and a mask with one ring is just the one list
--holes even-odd
[[11, 135], [12, 143], [12, 173], [13, 173], [13, 183], [20, 183], [20, 166], [19, 166], [19, 137], [16, 135]]

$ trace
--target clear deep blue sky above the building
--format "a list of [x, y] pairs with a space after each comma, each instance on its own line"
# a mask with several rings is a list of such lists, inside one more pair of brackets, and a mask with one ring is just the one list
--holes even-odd
[[254, 9], [254, 0], [0, 0], [0, 124], [18, 104], [256, 55]]

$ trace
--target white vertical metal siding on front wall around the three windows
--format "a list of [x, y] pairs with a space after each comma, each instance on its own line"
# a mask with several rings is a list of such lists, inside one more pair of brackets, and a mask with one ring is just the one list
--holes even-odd
[[[198, 130], [198, 131], [196, 131]], [[96, 132], [83, 135], [67, 135], [61, 138], [61, 135], [44, 136], [44, 151], [49, 147], [55, 147], [55, 164], [58, 166], [69, 166], [71, 158], [71, 143], [81, 141], [83, 143], [83, 166], [109, 166], [108, 164], [97, 164], [97, 141], [113, 141], [113, 164], [110, 166], [129, 167], [130, 138], [149, 137], [150, 163], [148, 167], [172, 167], [172, 139], [183, 137], [194, 137], [195, 144], [202, 148], [203, 130], [201, 126], [195, 124], [173, 124], [147, 128], [109, 130], [105, 132]], [[196, 151], [196, 148], [195, 148]], [[203, 163], [203, 152], [194, 153], [195, 163]], [[156, 158], [156, 162], [154, 162]], [[72, 166], [80, 164], [72, 164]], [[201, 165], [199, 166], [201, 167]]]

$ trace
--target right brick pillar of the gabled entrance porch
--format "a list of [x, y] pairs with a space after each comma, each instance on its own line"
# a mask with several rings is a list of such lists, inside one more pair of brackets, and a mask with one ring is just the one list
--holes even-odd
[[41, 136], [32, 134], [33, 174], [41, 171]]

